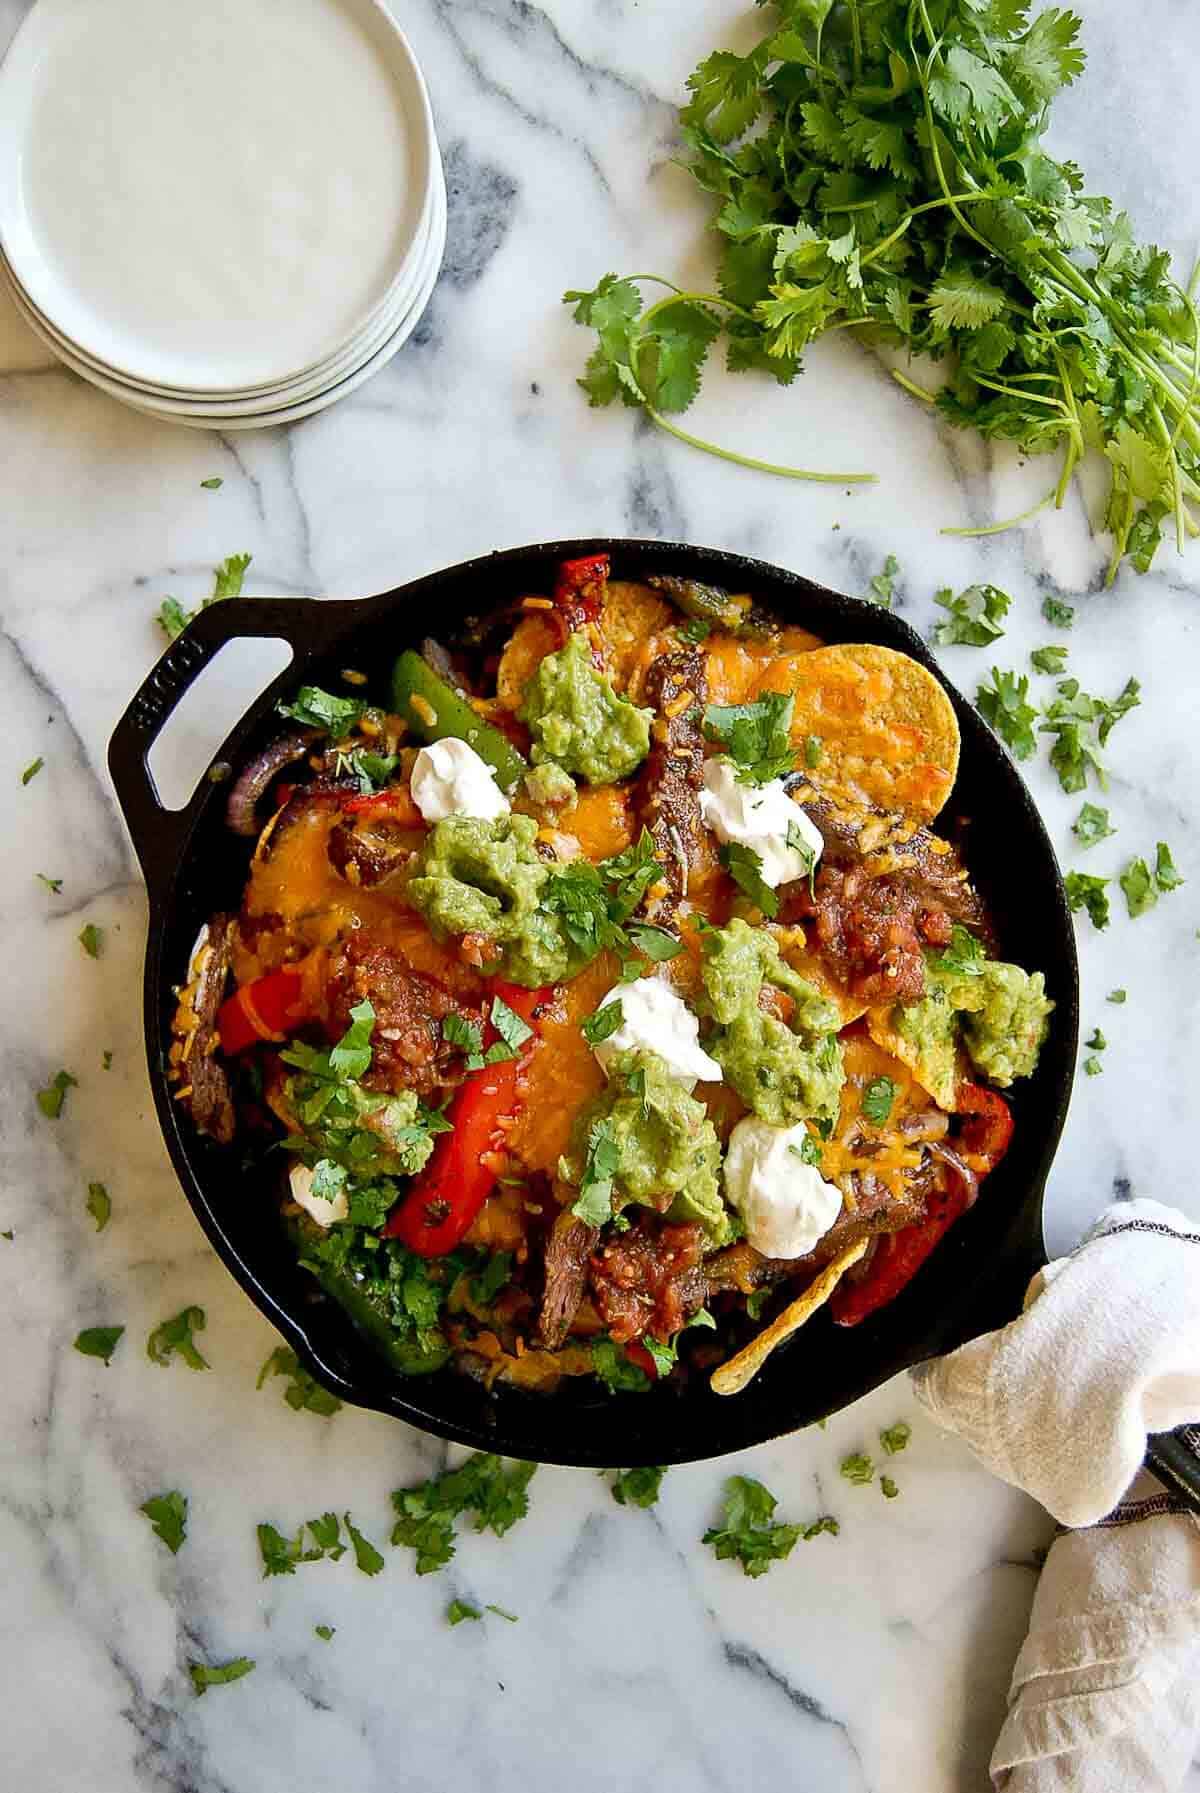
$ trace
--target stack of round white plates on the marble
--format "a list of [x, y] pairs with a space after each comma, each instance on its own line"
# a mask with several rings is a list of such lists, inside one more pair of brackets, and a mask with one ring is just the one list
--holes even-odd
[[0, 68], [0, 273], [68, 368], [291, 423], [414, 330], [447, 194], [382, 0], [38, 0]]

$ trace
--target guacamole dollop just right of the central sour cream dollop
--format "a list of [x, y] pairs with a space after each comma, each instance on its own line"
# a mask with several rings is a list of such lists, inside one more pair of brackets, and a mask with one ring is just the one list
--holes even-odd
[[[746, 1106], [771, 1126], [832, 1121], [845, 1083], [836, 1004], [784, 965], [770, 934], [737, 918], [705, 934], [701, 977], [717, 1022], [705, 1051]], [[759, 1006], [764, 984], [791, 997], [787, 1022]]]

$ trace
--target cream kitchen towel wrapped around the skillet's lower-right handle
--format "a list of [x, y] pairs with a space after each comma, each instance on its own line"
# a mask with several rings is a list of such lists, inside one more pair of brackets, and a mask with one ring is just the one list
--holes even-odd
[[[1200, 1524], [1139, 1472], [1200, 1422], [1200, 1228], [1107, 1208], [1019, 1320], [913, 1372], [920, 1402], [1064, 1526], [992, 1755], [1004, 1793], [1175, 1793], [1200, 1734]], [[1200, 1456], [1200, 1427], [1189, 1431]], [[1128, 1492], [1126, 1492], [1128, 1490]]]

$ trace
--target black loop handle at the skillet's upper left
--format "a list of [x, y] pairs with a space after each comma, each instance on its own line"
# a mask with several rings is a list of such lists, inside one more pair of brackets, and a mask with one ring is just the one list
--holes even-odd
[[321, 611], [341, 615], [343, 606], [317, 604], [310, 597], [228, 597], [210, 604], [176, 637], [129, 699], [108, 744], [108, 769], [151, 895], [178, 864], [192, 810], [203, 796], [201, 789], [183, 809], [167, 809], [147, 764], [176, 705], [226, 642], [239, 637], [285, 640], [294, 658], [280, 678], [294, 678], [298, 663], [309, 658], [332, 624], [332, 615], [326, 622]]

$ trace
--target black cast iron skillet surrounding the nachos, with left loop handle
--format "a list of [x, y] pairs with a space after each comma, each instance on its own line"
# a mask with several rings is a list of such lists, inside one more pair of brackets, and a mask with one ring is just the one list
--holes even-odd
[[[445, 1368], [396, 1377], [343, 1311], [298, 1268], [276, 1217], [269, 1173], [192, 1131], [167, 1083], [172, 984], [183, 977], [201, 923], [237, 909], [249, 843], [224, 827], [226, 787], [203, 780], [183, 810], [167, 810], [145, 764], [176, 703], [213, 654], [237, 637], [282, 637], [292, 663], [222, 744], [217, 764], [239, 767], [280, 728], [274, 705], [301, 683], [339, 689], [343, 667], [386, 680], [395, 654], [425, 633], [450, 635], [463, 617], [524, 592], [549, 592], [565, 558], [606, 552], [615, 577], [674, 572], [753, 592], [787, 622], [827, 642], [879, 642], [936, 663], [899, 617], [829, 592], [796, 574], [714, 549], [671, 541], [552, 541], [509, 549], [352, 602], [253, 597], [203, 610], [158, 662], [109, 744], [109, 771], [149, 888], [145, 1049], [158, 1119], [183, 1192], [213, 1250], [300, 1359], [343, 1400], [393, 1413], [423, 1431], [547, 1463], [685, 1463], [739, 1451], [807, 1425], [875, 1384], [1019, 1312], [1044, 1262], [1042, 1191], [1074, 1072], [1078, 968], [1055, 853], [1004, 751], [970, 705], [945, 685], [961, 726], [958, 782], [943, 819], [963, 818], [972, 877], [996, 918], [1003, 956], [1044, 968], [1055, 999], [1037, 1074], [1013, 1092], [1013, 1144], [978, 1205], [952, 1228], [915, 1282], [879, 1316], [836, 1329], [818, 1314], [735, 1397], [698, 1377], [682, 1390], [608, 1395], [590, 1377], [535, 1397]], [[384, 687], [378, 685], [382, 696]], [[1196, 1479], [1200, 1486], [1200, 1476]]]

